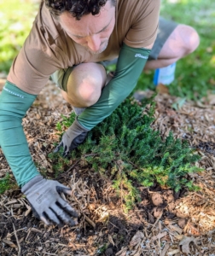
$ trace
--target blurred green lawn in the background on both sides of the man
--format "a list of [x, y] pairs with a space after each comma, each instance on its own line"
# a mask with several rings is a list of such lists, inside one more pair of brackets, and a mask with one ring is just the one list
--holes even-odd
[[[39, 1], [38, 1], [39, 2]], [[0, 1], [0, 72], [7, 73], [24, 43], [38, 10], [37, 1]], [[215, 84], [215, 2], [205, 0], [163, 0], [161, 15], [194, 26], [200, 34], [195, 53], [177, 61], [173, 95], [199, 99]], [[154, 89], [154, 72], [143, 74], [137, 89]]]

